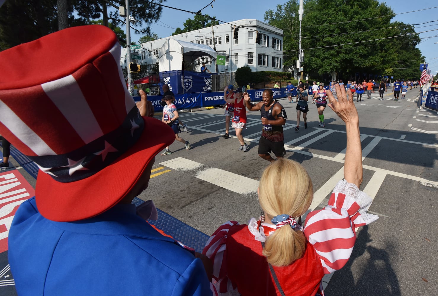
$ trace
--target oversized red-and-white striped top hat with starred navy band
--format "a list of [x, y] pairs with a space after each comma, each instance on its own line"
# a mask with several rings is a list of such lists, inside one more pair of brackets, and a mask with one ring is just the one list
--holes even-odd
[[67, 28], [0, 60], [0, 134], [39, 166], [36, 203], [50, 220], [111, 208], [175, 140], [166, 124], [138, 113], [120, 44], [105, 26]]

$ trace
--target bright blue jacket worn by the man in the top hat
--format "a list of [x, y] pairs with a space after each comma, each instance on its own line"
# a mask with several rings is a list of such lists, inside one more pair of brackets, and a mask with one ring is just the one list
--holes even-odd
[[18, 208], [8, 240], [20, 296], [212, 294], [201, 260], [137, 216], [133, 204], [53, 222], [33, 197]]

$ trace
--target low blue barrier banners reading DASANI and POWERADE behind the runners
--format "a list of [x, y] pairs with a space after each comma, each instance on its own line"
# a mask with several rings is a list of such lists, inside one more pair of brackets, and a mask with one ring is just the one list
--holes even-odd
[[[286, 98], [286, 88], [271, 88], [274, 93], [274, 99]], [[248, 94], [252, 102], [261, 101], [265, 89], [250, 89]], [[294, 91], [294, 96], [297, 92]], [[133, 97], [136, 102], [140, 101], [140, 96]], [[148, 100], [152, 102], [155, 112], [162, 112], [161, 106], [162, 95], [148, 95]], [[195, 109], [209, 106], [220, 106], [225, 102], [223, 92], [197, 92], [187, 94], [175, 94], [175, 106], [177, 109]]]

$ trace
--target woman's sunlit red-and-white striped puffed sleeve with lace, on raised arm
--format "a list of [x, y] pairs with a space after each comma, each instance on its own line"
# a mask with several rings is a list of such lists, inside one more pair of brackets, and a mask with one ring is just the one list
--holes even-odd
[[[339, 190], [339, 185], [346, 190]], [[356, 227], [378, 219], [377, 215], [365, 212], [371, 198], [351, 185], [340, 181], [335, 190], [342, 193], [333, 192], [324, 209], [312, 211], [306, 217], [304, 235], [315, 248], [326, 274], [339, 270], [350, 258], [356, 242]]]

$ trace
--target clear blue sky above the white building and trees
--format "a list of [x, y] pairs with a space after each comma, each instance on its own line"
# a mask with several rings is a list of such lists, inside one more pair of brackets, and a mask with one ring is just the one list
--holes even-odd
[[[184, 9], [187, 11], [198, 11], [205, 7], [211, 0], [167, 0], [164, 5]], [[210, 5], [202, 10], [202, 14], [215, 16], [221, 21], [237, 21], [244, 18], [255, 18], [263, 21], [265, 11], [276, 9], [277, 4], [284, 4], [286, 1], [268, 1], [268, 0], [215, 0], [213, 7]], [[382, 1], [381, 1], [382, 2]], [[190, 5], [186, 5], [190, 3]], [[438, 71], [438, 3], [426, 0], [391, 0], [386, 4], [398, 14], [393, 20], [403, 21], [407, 24], [416, 25], [416, 32], [430, 31], [420, 33], [421, 43], [418, 48], [426, 57], [426, 62], [432, 70], [432, 74]], [[437, 7], [437, 8], [431, 8]], [[417, 11], [427, 9], [423, 11]], [[415, 12], [412, 12], [415, 11]], [[407, 12], [407, 13], [406, 13]], [[306, 12], [304, 11], [304, 14]], [[193, 14], [177, 11], [171, 8], [163, 7], [162, 17], [157, 23], [152, 24], [152, 32], [157, 33], [160, 37], [172, 35], [177, 27], [183, 28], [183, 23], [187, 18], [193, 18]], [[133, 41], [138, 41], [139, 35], [131, 34]], [[413, 58], [414, 59], [414, 58]]]

